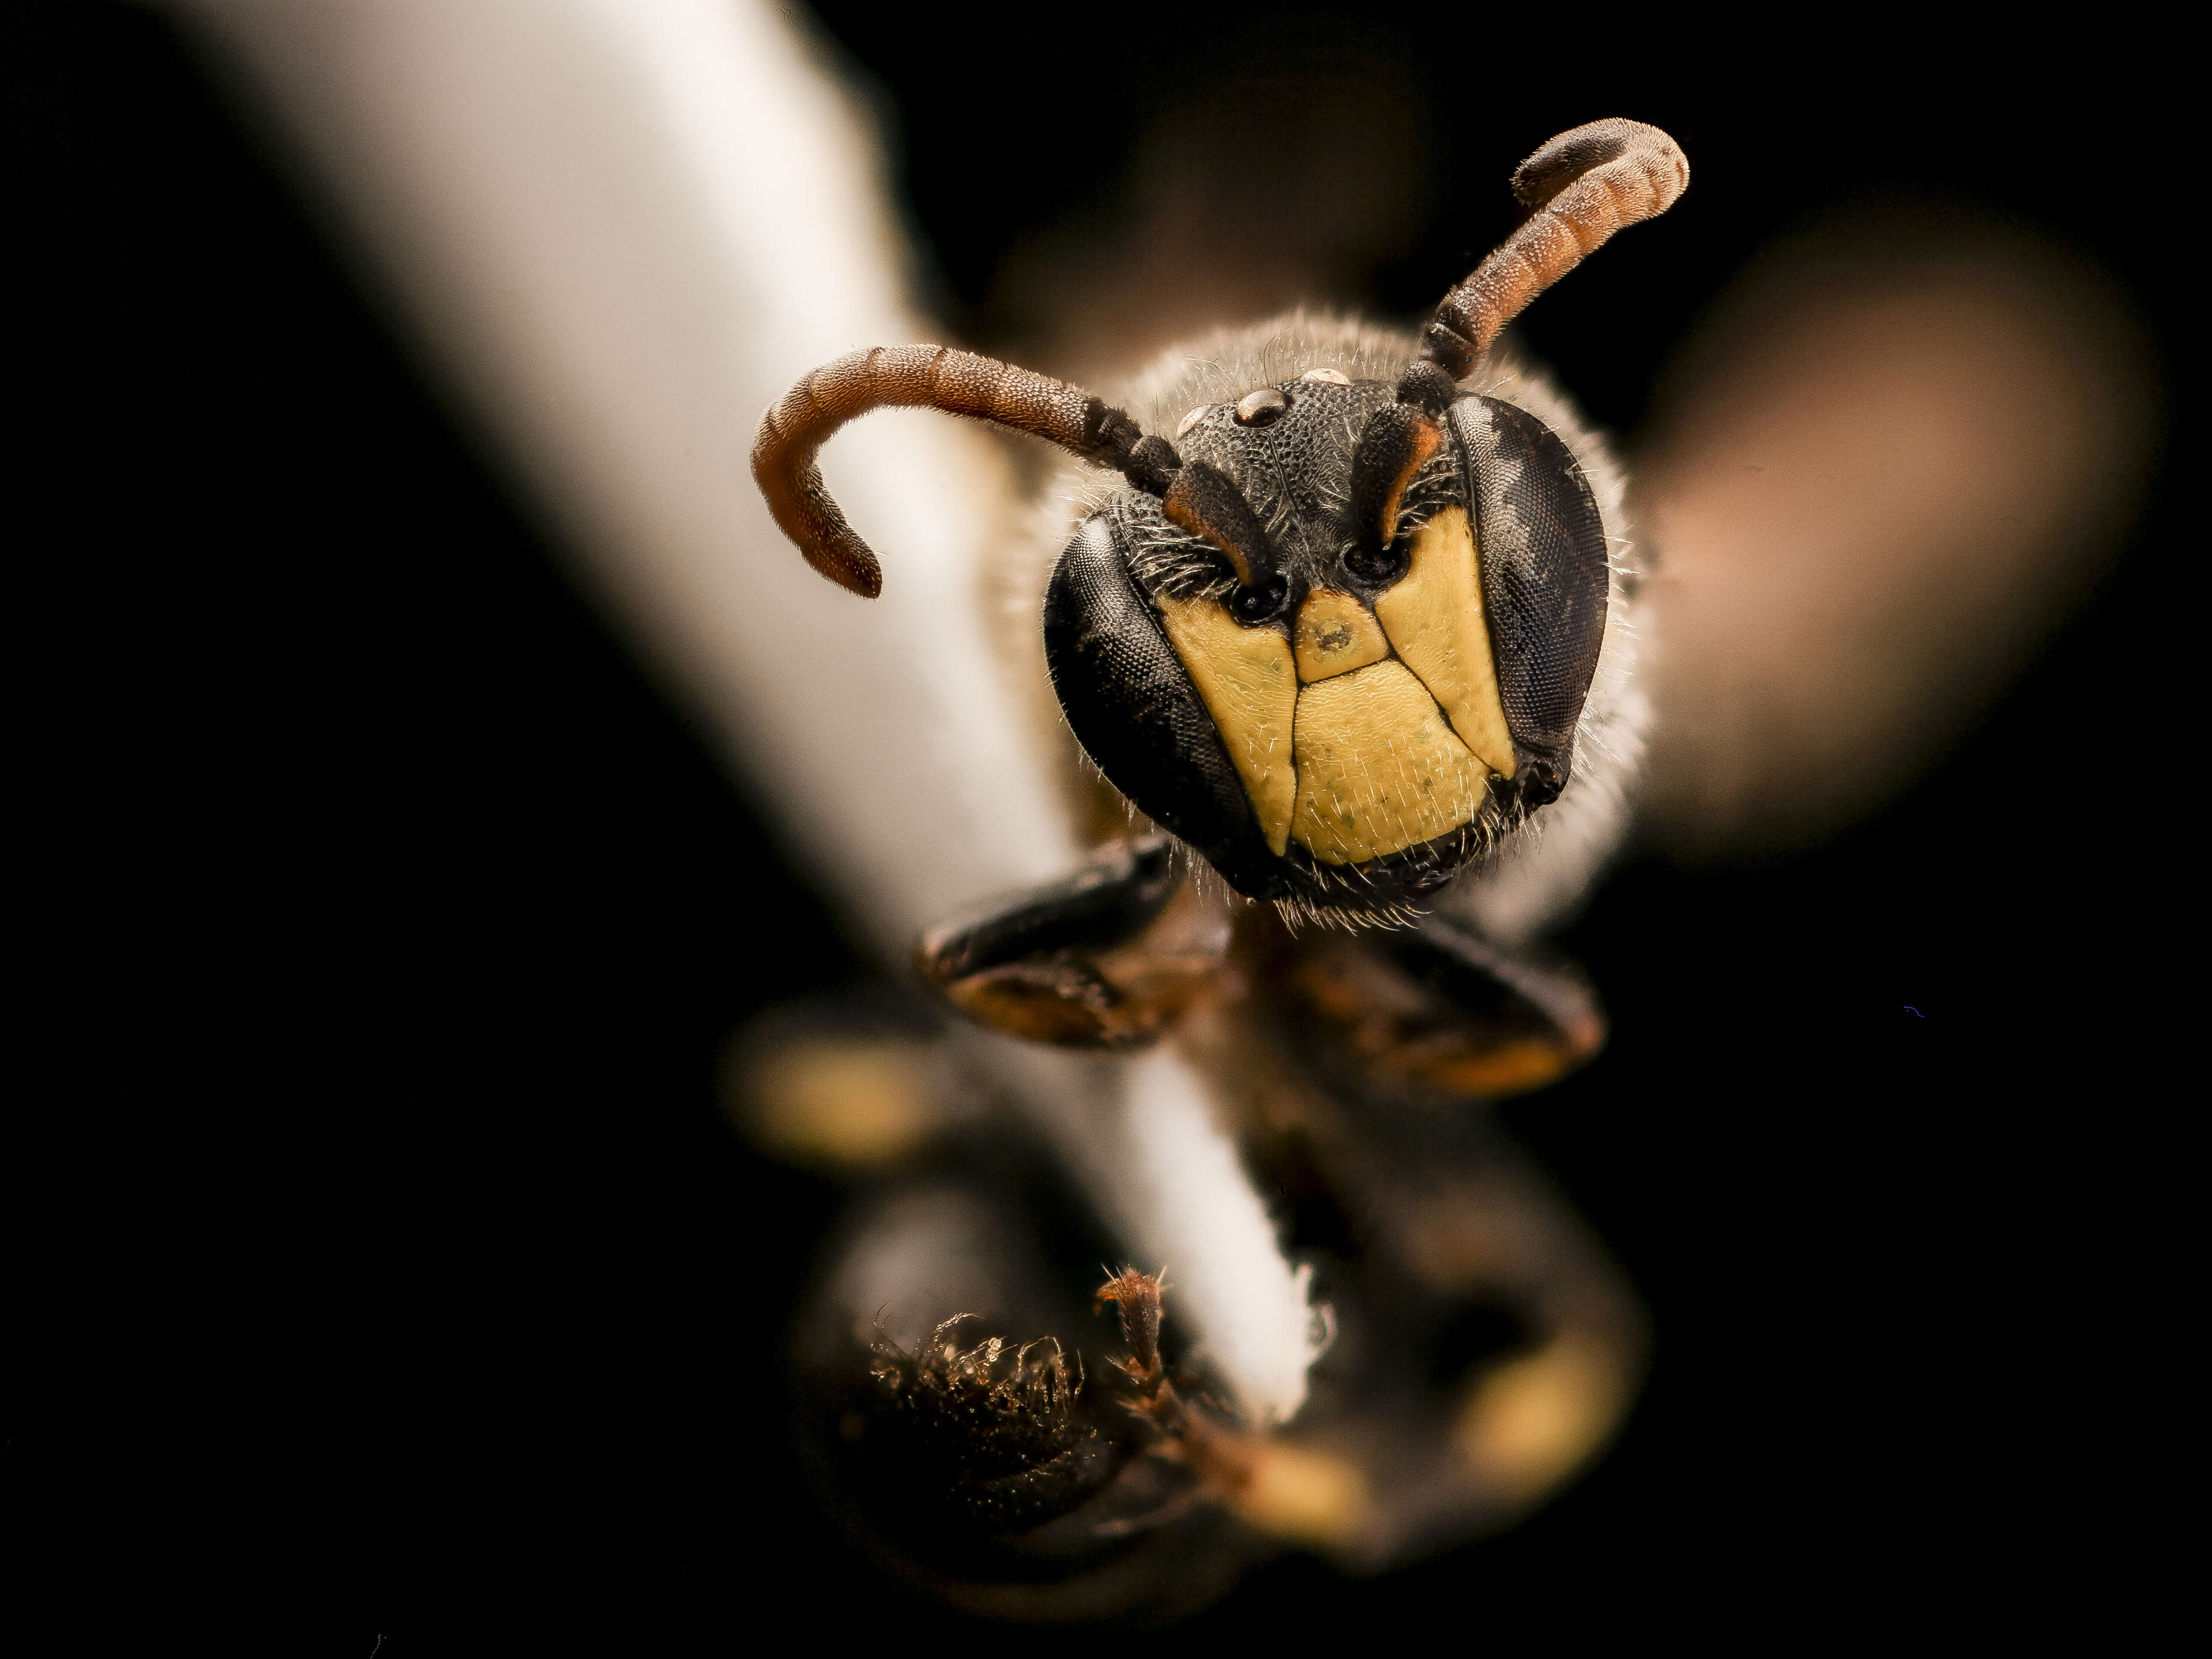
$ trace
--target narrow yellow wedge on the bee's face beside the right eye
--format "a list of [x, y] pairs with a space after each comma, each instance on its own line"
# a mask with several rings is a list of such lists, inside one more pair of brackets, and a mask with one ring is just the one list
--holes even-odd
[[[1513, 734], [1498, 701], [1491, 628], [1482, 615], [1482, 557], [1467, 509], [1447, 507], [1413, 531], [1413, 566], [1376, 599], [1383, 633], [1420, 675], [1460, 734], [1500, 776], [1513, 776]], [[1305, 657], [1298, 657], [1305, 670]]]

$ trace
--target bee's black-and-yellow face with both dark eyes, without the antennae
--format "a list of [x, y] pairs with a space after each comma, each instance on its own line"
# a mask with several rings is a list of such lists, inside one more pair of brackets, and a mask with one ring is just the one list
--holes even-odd
[[1566, 445], [1464, 396], [1387, 542], [1354, 518], [1385, 380], [1314, 372], [1192, 409], [1177, 449], [1250, 504], [1248, 564], [1113, 495], [1044, 606], [1053, 684], [1106, 776], [1243, 894], [1385, 909], [1553, 801], [1606, 626], [1606, 538]]

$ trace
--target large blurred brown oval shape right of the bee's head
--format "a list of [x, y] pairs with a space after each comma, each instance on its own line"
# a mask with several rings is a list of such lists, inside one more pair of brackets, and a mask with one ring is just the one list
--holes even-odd
[[1652, 838], [1801, 843], [1924, 768], [2128, 531], [2154, 398], [2119, 299], [2015, 232], [1860, 217], [1761, 259], [1635, 473]]

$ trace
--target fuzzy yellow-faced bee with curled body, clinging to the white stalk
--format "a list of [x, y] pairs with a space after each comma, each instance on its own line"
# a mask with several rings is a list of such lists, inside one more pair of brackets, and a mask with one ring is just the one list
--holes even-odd
[[[918, 967], [1029, 1044], [1172, 1040], [1245, 1155], [1340, 1237], [1318, 1314], [1347, 1332], [1338, 1398], [1285, 1433], [1210, 1394], [1206, 1365], [1177, 1391], [1161, 1274], [1106, 1279], [1126, 1356], [1071, 1371], [1082, 1314], [1006, 1287], [1051, 1279], [1018, 1265], [1024, 1232], [1055, 1225], [1037, 1201], [1024, 1219], [947, 1188], [860, 1225], [803, 1345], [805, 1387], [843, 1425], [821, 1436], [832, 1484], [874, 1493], [852, 1502], [878, 1548], [971, 1606], [1181, 1606], [1254, 1540], [1387, 1564], [1522, 1511], [1626, 1407], [1632, 1296], [1478, 1110], [1604, 1040], [1586, 982], [1535, 940], [1621, 834], [1648, 708], [1619, 469], [1498, 334], [1686, 186], [1659, 128], [1577, 126], [1517, 168], [1528, 219], [1418, 336], [1265, 323], [1175, 354], [1135, 414], [914, 345], [830, 363], [763, 418], [752, 471], [776, 524], [860, 597], [883, 566], [816, 451], [869, 409], [989, 420], [1113, 476], [1068, 480], [1075, 522], [1044, 540], [1031, 619], [1071, 770], [1130, 830], [1064, 880], [942, 920]], [[889, 1285], [867, 1261], [905, 1263], [889, 1301], [911, 1329], [878, 1323], [863, 1367], [849, 1327]], [[995, 1263], [980, 1307], [914, 1283], [931, 1261], [940, 1279]], [[1037, 1332], [971, 1325], [1009, 1301]], [[1409, 1394], [1469, 1314], [1504, 1336]], [[880, 1544], [902, 1517], [905, 1542]], [[1040, 1559], [1062, 1582], [1013, 1588]]]

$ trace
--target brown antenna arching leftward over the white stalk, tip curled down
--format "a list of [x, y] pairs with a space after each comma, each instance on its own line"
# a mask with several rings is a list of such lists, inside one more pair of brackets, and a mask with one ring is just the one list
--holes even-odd
[[1115, 467], [1152, 495], [1166, 495], [1181, 467], [1164, 438], [1146, 438], [1121, 409], [998, 358], [947, 345], [878, 345], [841, 356], [801, 376], [761, 416], [752, 478], [807, 564], [863, 599], [883, 593], [883, 566], [830, 498], [814, 456], [838, 427], [872, 409], [945, 409], [1029, 431]]

